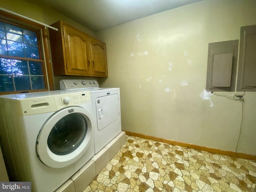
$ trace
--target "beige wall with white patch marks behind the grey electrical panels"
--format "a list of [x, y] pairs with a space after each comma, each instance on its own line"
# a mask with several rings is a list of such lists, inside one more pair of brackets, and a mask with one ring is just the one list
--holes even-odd
[[[208, 43], [239, 39], [255, 18], [255, 0], [204, 0], [98, 32], [108, 57], [102, 86], [120, 87], [122, 130], [235, 151], [242, 100], [200, 94]], [[256, 155], [256, 93], [245, 93], [243, 108], [237, 151]]]

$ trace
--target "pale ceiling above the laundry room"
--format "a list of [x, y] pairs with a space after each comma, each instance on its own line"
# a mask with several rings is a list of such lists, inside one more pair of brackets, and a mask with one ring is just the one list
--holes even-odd
[[97, 32], [201, 0], [37, 0]]

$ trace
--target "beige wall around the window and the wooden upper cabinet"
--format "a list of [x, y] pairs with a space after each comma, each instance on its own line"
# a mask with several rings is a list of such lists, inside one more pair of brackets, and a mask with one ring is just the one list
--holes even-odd
[[[52, 8], [38, 3], [35, 0], [0, 0], [0, 7], [10, 10], [12, 12], [21, 14], [28, 18], [32, 18], [45, 24], [52, 24], [58, 20], [62, 20], [79, 30], [86, 32], [87, 34], [94, 36], [95, 33], [85, 26], [75, 22], [74, 20], [64, 16], [63, 14], [53, 10]], [[49, 29], [51, 30], [51, 29]], [[54, 76], [54, 88], [55, 90], [60, 89], [59, 82], [61, 79], [78, 79], [81, 77], [70, 77], [70, 76]]]

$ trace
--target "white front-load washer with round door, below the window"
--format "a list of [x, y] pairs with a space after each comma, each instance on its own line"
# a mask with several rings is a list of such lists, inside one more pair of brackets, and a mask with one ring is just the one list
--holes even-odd
[[53, 192], [94, 156], [90, 92], [0, 96], [1, 146], [11, 181]]

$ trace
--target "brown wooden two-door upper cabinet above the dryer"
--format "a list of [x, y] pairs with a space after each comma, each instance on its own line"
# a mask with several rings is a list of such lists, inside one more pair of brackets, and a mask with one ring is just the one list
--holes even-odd
[[49, 29], [54, 75], [107, 77], [106, 44], [58, 21]]

